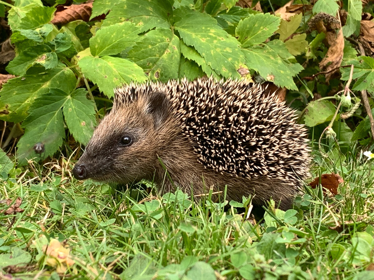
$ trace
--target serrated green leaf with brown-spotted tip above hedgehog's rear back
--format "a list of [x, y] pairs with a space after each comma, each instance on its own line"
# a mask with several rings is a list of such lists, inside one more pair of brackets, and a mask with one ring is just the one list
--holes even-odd
[[303, 66], [296, 63], [280, 40], [273, 40], [263, 47], [252, 47], [243, 50], [248, 65], [258, 71], [268, 81], [272, 81], [279, 87], [296, 90], [297, 87], [290, 77], [303, 70]]

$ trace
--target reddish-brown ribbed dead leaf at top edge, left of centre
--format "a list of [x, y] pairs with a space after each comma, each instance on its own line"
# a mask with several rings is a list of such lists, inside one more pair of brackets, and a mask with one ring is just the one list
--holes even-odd
[[71, 21], [83, 20], [89, 21], [92, 12], [92, 3], [81, 3], [71, 6], [58, 6], [53, 24], [67, 24]]

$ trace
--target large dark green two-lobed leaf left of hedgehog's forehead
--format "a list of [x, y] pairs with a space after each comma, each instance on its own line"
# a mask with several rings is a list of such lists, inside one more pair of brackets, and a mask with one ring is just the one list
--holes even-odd
[[[80, 143], [88, 143], [96, 120], [95, 103], [88, 100], [86, 94], [83, 88], [70, 92], [51, 88], [48, 93], [35, 100], [30, 108], [30, 115], [22, 123], [25, 134], [17, 144], [19, 164], [25, 164], [26, 159], [35, 156], [45, 159], [61, 147], [62, 139], [65, 137], [62, 112], [74, 138]], [[37, 143], [44, 147], [40, 155], [37, 155], [33, 149]]]

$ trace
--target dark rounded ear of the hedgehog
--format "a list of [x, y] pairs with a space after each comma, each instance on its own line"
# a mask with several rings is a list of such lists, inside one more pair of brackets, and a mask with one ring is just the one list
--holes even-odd
[[154, 119], [154, 126], [157, 128], [168, 117], [169, 98], [165, 93], [157, 91], [152, 93], [147, 100], [145, 112], [151, 114]]

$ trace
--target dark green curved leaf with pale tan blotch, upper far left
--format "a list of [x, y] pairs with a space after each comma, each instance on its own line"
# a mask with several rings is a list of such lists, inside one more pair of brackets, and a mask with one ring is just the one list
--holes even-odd
[[13, 75], [25, 75], [27, 69], [35, 64], [40, 64], [45, 69], [55, 68], [58, 58], [55, 52], [47, 45], [30, 47], [21, 52], [15, 59], [9, 62], [6, 70]]

